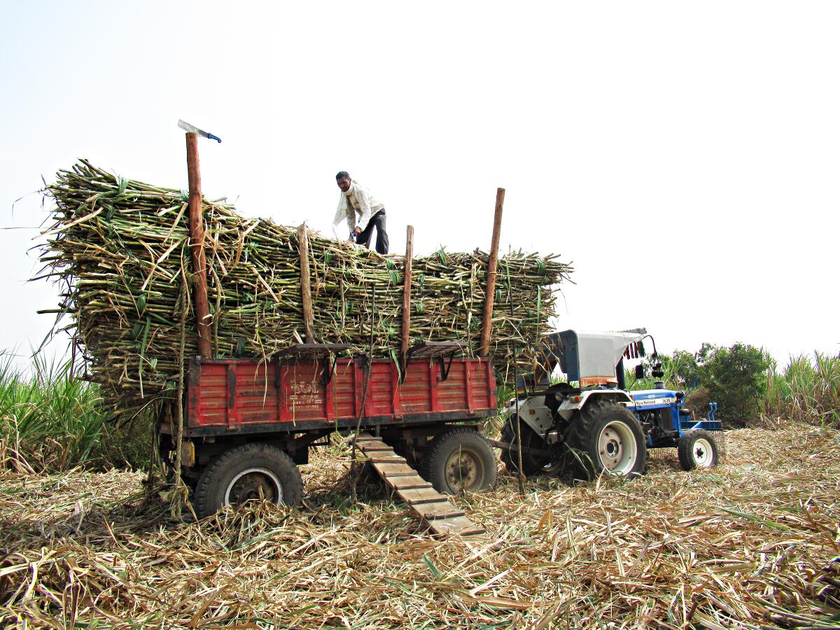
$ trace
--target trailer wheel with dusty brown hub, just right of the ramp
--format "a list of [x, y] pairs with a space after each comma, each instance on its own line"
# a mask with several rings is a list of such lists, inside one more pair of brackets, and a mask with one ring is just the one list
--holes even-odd
[[496, 454], [471, 428], [453, 428], [438, 435], [423, 464], [428, 481], [444, 494], [477, 492], [496, 483]]

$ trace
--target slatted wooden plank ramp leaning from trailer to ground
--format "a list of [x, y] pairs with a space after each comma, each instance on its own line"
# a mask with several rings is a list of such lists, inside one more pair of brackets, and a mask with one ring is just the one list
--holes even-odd
[[463, 510], [454, 507], [432, 484], [417, 475], [417, 470], [408, 465], [406, 458], [394, 453], [381, 438], [360, 433], [356, 445], [386, 484], [428, 523], [433, 533], [461, 536], [484, 533], [484, 528], [465, 517]]

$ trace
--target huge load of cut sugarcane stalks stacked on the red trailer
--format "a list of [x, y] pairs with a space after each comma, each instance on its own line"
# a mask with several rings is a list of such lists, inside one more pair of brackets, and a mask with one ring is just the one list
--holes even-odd
[[[47, 194], [55, 223], [40, 278], [60, 281], [59, 315], [83, 349], [93, 381], [118, 413], [172, 391], [197, 353], [187, 194], [97, 169], [81, 160]], [[203, 202], [213, 355], [270, 357], [302, 339], [297, 230]], [[315, 341], [350, 344], [396, 360], [401, 337], [399, 256], [307, 233]], [[512, 253], [501, 258], [492, 352], [503, 369], [536, 360], [533, 344], [554, 315], [551, 286], [570, 265]], [[488, 255], [444, 249], [412, 261], [412, 342], [465, 340], [475, 354]], [[512, 312], [511, 312], [512, 304]], [[372, 329], [372, 331], [371, 331]]]

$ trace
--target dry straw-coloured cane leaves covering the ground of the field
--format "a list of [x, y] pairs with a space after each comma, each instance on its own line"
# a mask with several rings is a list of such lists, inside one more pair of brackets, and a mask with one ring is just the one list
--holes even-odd
[[838, 433], [729, 433], [727, 462], [455, 498], [487, 533], [430, 538], [346, 459], [307, 503], [172, 523], [141, 475], [5, 473], [0, 623], [23, 627], [837, 627]]

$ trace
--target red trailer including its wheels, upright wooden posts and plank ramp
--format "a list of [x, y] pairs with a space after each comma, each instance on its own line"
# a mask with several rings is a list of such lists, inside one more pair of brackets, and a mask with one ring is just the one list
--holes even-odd
[[[409, 347], [412, 226], [399, 359], [349, 356], [348, 345], [315, 343], [306, 225], [297, 230], [306, 343], [270, 357], [217, 358], [210, 339], [197, 132], [188, 129], [186, 142], [200, 355], [186, 366], [179, 404], [165, 406], [157, 443], [171, 476], [180, 475], [192, 489], [197, 516], [252, 500], [297, 505], [303, 495], [297, 466], [307, 464], [309, 450], [328, 445], [333, 433], [352, 433], [354, 445], [434, 532], [481, 531], [440, 493], [478, 491], [496, 481], [496, 454], [479, 423], [498, 407], [489, 349], [504, 189], [496, 191], [479, 358], [456, 358], [463, 342], [427, 340]], [[375, 286], [370, 289], [375, 304]]]

